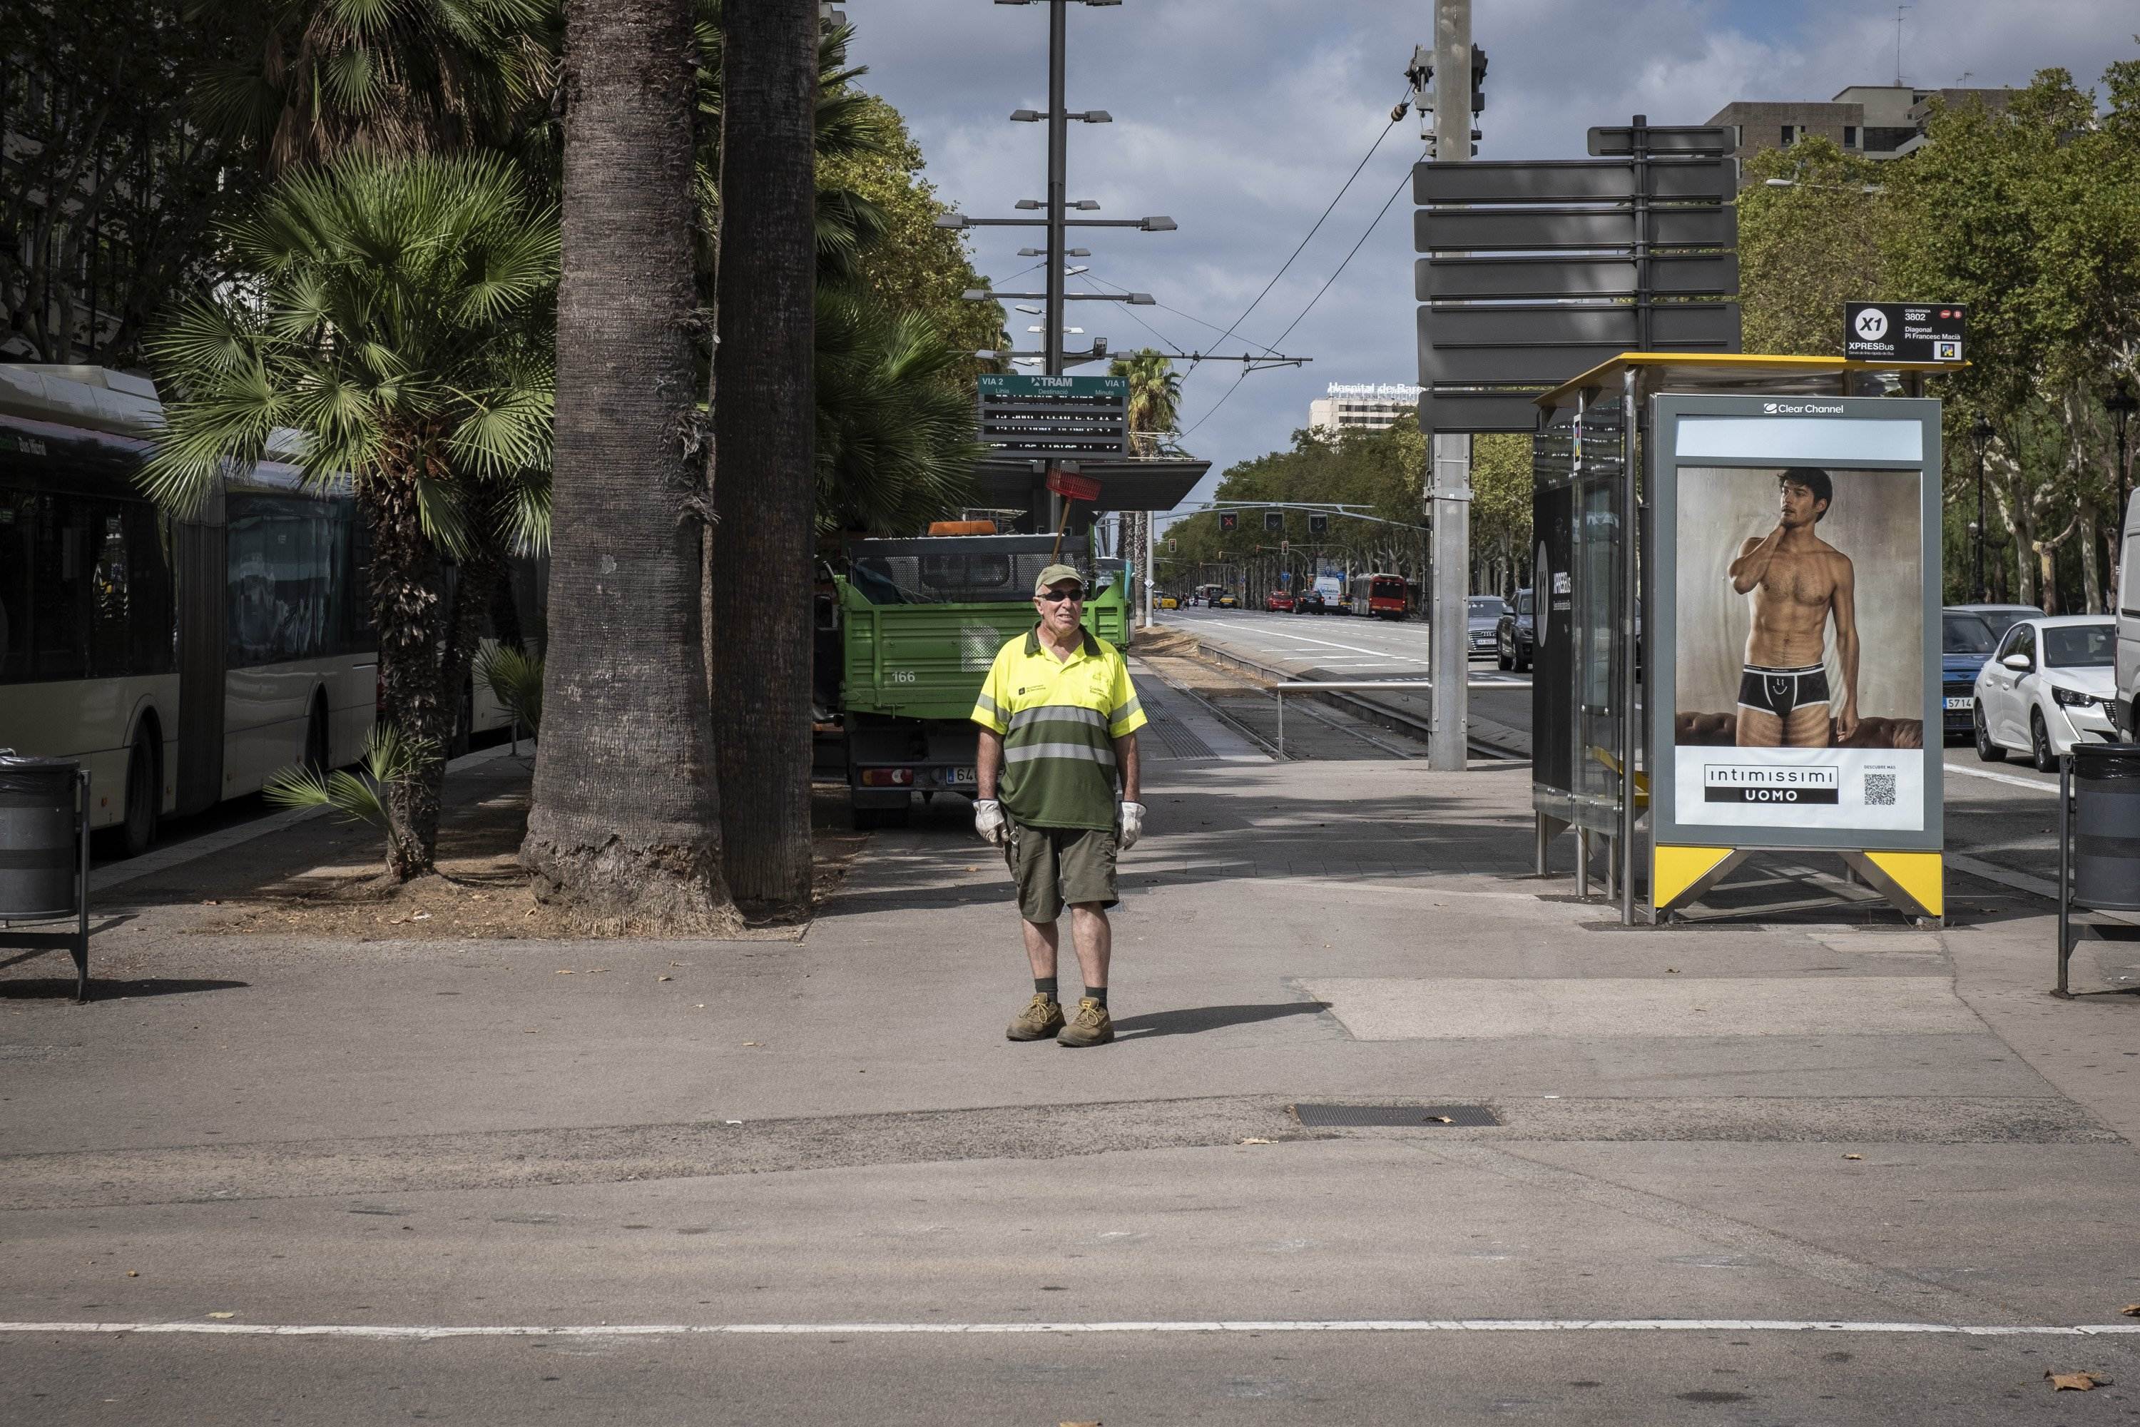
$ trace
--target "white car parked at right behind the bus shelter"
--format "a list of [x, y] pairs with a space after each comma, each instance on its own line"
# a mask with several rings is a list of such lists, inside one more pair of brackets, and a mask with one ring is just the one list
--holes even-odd
[[2101, 614], [2016, 620], [1977, 672], [1977, 757], [2027, 753], [2054, 772], [2076, 742], [2116, 742], [2116, 629]]

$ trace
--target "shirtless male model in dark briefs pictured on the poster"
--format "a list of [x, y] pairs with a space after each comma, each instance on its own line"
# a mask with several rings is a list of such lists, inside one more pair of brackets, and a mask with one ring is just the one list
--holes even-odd
[[1746, 749], [1825, 749], [1832, 695], [1821, 648], [1830, 614], [1843, 659], [1836, 742], [1858, 732], [1858, 576], [1847, 554], [1813, 533], [1836, 494], [1828, 473], [1791, 466], [1776, 486], [1776, 528], [1742, 543], [1740, 558], [1731, 561], [1731, 588], [1753, 590], [1738, 742]]

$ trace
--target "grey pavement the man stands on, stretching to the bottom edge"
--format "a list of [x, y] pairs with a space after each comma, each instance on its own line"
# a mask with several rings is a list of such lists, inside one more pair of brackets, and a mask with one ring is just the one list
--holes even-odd
[[[295, 1416], [764, 1421], [811, 1382], [811, 1421], [854, 1423], [1419, 1421], [1421, 1393], [1438, 1421], [1746, 1401], [1744, 1421], [2009, 1423], [2074, 1408], [2044, 1367], [2140, 1382], [2140, 1339], [1729, 1326], [2112, 1324], [2140, 1301], [2140, 1006], [2042, 995], [2048, 907], [1945, 933], [1864, 911], [1624, 931], [1526, 875], [1522, 766], [1147, 774], [1121, 1040], [1085, 1053], [1002, 1038], [1023, 954], [957, 798], [877, 834], [800, 943], [203, 935], [126, 903], [154, 879], [113, 888], [137, 931], [107, 933], [101, 965], [141, 995], [26, 999], [51, 971], [0, 969], [0, 1320], [1688, 1331], [417, 1359], [45, 1331], [0, 1339], [0, 1403], [263, 1416], [327, 1374], [342, 1388]], [[1502, 1123], [1303, 1130], [1303, 1100]]]

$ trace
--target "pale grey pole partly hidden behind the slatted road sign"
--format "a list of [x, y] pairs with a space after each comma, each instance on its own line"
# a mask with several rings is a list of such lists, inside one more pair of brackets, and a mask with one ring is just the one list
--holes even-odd
[[[1470, 0], [1434, 6], [1434, 156], [1470, 158]], [[1470, 434], [1434, 432], [1427, 475], [1434, 490], [1434, 586], [1427, 670], [1434, 678], [1434, 734], [1427, 766], [1464, 770], [1470, 745]]]

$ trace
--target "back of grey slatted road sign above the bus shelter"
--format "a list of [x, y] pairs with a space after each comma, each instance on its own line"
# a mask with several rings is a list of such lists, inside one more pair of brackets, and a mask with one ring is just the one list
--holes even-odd
[[1423, 430], [1530, 432], [1624, 351], [1740, 349], [1731, 133], [1637, 116], [1590, 152], [1412, 171]]

